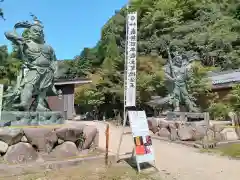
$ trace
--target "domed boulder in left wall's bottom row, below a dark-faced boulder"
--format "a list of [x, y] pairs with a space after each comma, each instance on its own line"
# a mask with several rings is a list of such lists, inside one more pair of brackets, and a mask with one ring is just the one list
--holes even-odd
[[79, 151], [75, 143], [66, 141], [63, 144], [56, 146], [50, 153], [51, 157], [62, 159], [68, 157], [78, 156]]

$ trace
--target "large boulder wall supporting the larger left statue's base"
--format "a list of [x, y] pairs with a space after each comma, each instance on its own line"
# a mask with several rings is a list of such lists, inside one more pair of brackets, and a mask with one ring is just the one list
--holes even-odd
[[84, 124], [61, 127], [1, 128], [0, 154], [6, 163], [79, 156], [98, 147], [98, 130]]

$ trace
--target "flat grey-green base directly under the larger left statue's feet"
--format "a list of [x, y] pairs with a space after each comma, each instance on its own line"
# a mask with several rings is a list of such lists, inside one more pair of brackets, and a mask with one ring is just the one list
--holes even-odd
[[23, 111], [2, 111], [0, 127], [4, 126], [36, 126], [63, 124], [62, 112], [23, 112]]

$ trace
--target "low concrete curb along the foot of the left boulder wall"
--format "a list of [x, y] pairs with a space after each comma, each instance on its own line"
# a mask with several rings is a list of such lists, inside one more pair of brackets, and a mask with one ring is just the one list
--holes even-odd
[[[116, 156], [112, 153], [109, 153], [108, 163], [114, 163], [116, 161]], [[83, 157], [76, 159], [66, 159], [61, 161], [49, 161], [44, 163], [29, 163], [29, 164], [18, 164], [18, 165], [9, 165], [9, 164], [1, 164], [0, 165], [0, 177], [12, 177], [19, 176], [25, 174], [36, 174], [39, 171], [50, 171], [56, 170], [60, 168], [67, 168], [73, 166], [85, 166], [88, 163], [105, 163], [105, 156], [93, 156], [93, 157]]]

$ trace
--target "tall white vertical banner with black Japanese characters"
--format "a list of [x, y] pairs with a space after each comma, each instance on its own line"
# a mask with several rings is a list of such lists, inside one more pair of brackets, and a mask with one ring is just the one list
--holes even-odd
[[127, 16], [126, 107], [136, 106], [137, 12]]

